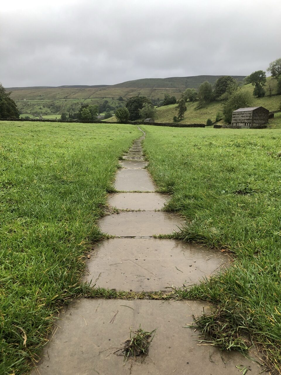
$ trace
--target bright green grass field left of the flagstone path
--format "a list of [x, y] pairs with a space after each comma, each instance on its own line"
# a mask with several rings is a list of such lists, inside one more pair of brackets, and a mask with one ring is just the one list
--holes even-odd
[[36, 359], [54, 314], [83, 292], [84, 254], [132, 125], [0, 122], [0, 374]]

